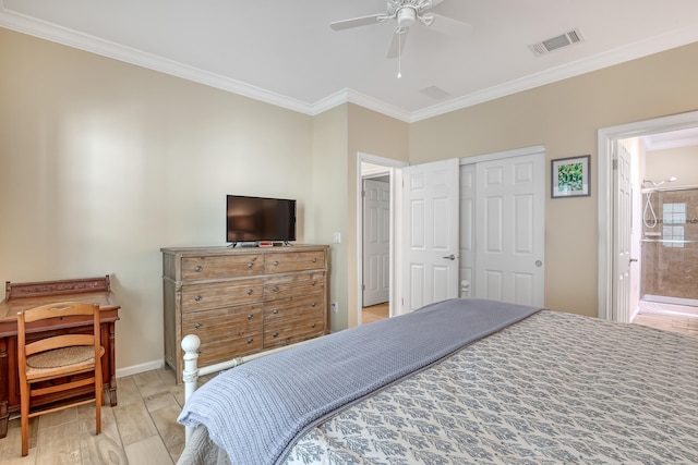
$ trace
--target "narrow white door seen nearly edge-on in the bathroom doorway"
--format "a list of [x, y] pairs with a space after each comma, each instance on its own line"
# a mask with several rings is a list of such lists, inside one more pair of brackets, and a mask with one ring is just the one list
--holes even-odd
[[630, 154], [623, 144], [613, 142], [613, 321], [630, 322], [630, 228], [631, 228], [631, 192], [630, 192]]

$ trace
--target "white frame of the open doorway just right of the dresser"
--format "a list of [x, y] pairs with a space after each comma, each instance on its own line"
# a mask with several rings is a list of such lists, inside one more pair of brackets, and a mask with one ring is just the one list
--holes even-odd
[[[363, 196], [361, 194], [362, 191], [362, 182], [363, 175], [361, 172], [361, 163], [372, 163], [381, 167], [385, 167], [385, 170], [382, 171], [382, 174], [387, 174], [390, 180], [390, 265], [389, 265], [389, 285], [390, 285], [390, 294], [388, 302], [388, 315], [394, 315], [394, 303], [396, 301], [396, 296], [400, 295], [401, 290], [398, 289], [399, 284], [395, 278], [395, 270], [399, 269], [400, 258], [398, 254], [396, 254], [398, 246], [398, 237], [396, 234], [395, 224], [401, 220], [401, 213], [397, 206], [401, 205], [401, 189], [397, 188], [398, 185], [402, 184], [402, 172], [401, 168], [409, 166], [407, 161], [394, 160], [392, 158], [380, 157], [376, 155], [357, 152], [357, 289], [354, 292], [357, 293], [357, 321], [358, 325], [361, 325], [361, 310], [362, 310], [362, 302], [363, 302], [363, 292], [361, 289], [363, 282]], [[372, 171], [372, 174], [378, 174], [377, 171]], [[349, 309], [351, 311], [351, 309]]]

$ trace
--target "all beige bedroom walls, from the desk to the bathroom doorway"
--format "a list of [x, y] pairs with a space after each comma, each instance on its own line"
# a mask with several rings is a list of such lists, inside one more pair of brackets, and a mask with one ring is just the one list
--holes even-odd
[[549, 159], [591, 154], [593, 176], [591, 197], [546, 203], [545, 304], [595, 315], [597, 131], [698, 109], [697, 57], [407, 124], [350, 103], [311, 118], [0, 28], [0, 280], [112, 274], [118, 367], [148, 364], [163, 357], [159, 248], [222, 245], [228, 193], [293, 197], [299, 242], [342, 237], [337, 331], [359, 305], [358, 152], [419, 163], [544, 144]]

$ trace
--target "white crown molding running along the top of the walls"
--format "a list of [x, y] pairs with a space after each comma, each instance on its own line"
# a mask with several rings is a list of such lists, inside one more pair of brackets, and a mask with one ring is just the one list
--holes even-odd
[[238, 94], [243, 97], [249, 97], [309, 115], [317, 115], [338, 105], [350, 102], [407, 123], [438, 117], [452, 111], [461, 110], [490, 100], [506, 97], [524, 90], [530, 90], [546, 84], [552, 84], [606, 66], [698, 41], [698, 28], [685, 27], [662, 36], [648, 38], [626, 47], [610, 50], [589, 59], [579, 60], [558, 68], [531, 74], [519, 79], [492, 86], [462, 97], [449, 99], [423, 110], [409, 112], [349, 88], [339, 90], [314, 103], [308, 103], [219, 74], [189, 66], [173, 60], [146, 53], [109, 40], [77, 33], [65, 27], [57, 26], [56, 24], [8, 11], [2, 4], [2, 0], [0, 0], [0, 27], [40, 37], [46, 40], [219, 88], [221, 90]]

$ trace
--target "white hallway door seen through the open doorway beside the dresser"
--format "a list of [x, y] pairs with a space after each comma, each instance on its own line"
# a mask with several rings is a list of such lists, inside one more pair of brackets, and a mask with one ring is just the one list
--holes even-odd
[[363, 306], [388, 302], [390, 293], [390, 184], [363, 181]]

